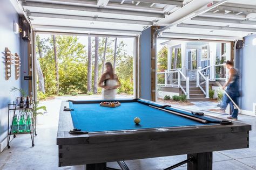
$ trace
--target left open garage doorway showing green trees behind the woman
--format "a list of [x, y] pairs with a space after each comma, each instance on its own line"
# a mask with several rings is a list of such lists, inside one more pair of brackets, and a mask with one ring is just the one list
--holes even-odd
[[98, 86], [111, 62], [120, 81], [116, 98], [134, 98], [133, 37], [37, 33], [37, 98], [100, 100]]

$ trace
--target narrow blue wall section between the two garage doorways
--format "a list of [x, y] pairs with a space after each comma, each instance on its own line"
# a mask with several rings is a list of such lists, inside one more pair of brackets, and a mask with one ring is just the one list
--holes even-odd
[[140, 35], [140, 98], [151, 100], [151, 27]]

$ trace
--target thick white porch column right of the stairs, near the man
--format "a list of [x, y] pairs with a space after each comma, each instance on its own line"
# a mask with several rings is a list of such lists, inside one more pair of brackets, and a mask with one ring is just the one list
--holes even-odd
[[210, 54], [210, 80], [215, 80], [215, 62], [216, 62], [216, 42], [209, 42], [209, 54]]

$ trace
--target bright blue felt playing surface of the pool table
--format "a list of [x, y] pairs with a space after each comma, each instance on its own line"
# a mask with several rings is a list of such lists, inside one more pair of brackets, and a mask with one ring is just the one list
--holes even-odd
[[[116, 108], [70, 102], [70, 108], [74, 109], [71, 111], [74, 127], [89, 132], [203, 125], [138, 102], [122, 103]], [[141, 119], [139, 125], [134, 124], [135, 117]]]

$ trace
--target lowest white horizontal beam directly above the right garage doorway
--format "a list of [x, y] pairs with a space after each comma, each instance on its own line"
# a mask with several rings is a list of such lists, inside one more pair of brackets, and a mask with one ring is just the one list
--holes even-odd
[[242, 37], [231, 37], [231, 36], [215, 36], [208, 34], [187, 34], [187, 33], [172, 33], [172, 32], [163, 32], [163, 37], [187, 37], [187, 38], [198, 38], [198, 39], [230, 39], [230, 40], [241, 40]]

